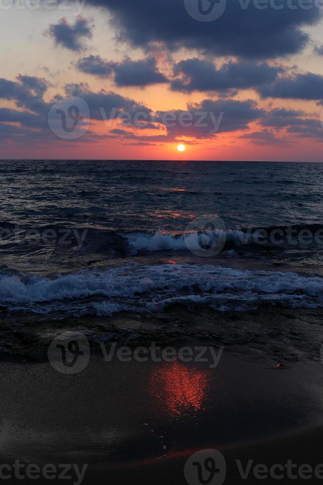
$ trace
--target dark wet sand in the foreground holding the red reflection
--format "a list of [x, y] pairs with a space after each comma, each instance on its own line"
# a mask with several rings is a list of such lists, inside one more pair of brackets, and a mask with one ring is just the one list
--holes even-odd
[[[224, 483], [234, 485], [236, 459], [323, 462], [321, 363], [273, 368], [225, 352], [217, 368], [209, 364], [95, 355], [81, 373], [63, 375], [49, 363], [2, 362], [1, 463], [88, 464], [83, 484], [181, 485], [188, 457], [215, 448], [227, 461]], [[56, 483], [39, 483], [48, 482]]]

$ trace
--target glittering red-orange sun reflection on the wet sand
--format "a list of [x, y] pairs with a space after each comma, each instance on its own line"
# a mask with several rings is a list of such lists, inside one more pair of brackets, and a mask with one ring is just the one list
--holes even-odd
[[176, 361], [153, 372], [150, 390], [171, 414], [181, 415], [201, 409], [208, 382], [206, 371]]

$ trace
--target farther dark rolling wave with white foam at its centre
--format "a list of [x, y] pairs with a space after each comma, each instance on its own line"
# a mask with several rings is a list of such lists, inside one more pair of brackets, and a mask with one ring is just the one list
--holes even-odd
[[[29, 231], [31, 235], [29, 234]], [[159, 251], [193, 253], [198, 256], [218, 254], [257, 254], [282, 248], [320, 248], [323, 226], [320, 224], [272, 226], [249, 229], [215, 229], [192, 232], [138, 230], [121, 232], [104, 226], [43, 225], [31, 228], [0, 222], [0, 255], [8, 266], [26, 271], [87, 268], [107, 260], [126, 259], [137, 253]], [[316, 249], [315, 249], [316, 250]], [[202, 261], [202, 259], [201, 259]], [[77, 266], [76, 266], [77, 265]], [[64, 271], [66, 270], [64, 268]]]

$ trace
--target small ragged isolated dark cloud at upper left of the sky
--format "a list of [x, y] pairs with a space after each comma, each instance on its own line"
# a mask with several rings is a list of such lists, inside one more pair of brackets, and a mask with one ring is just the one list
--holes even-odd
[[84, 39], [92, 38], [92, 28], [91, 22], [79, 15], [74, 25], [64, 17], [57, 24], [50, 25], [45, 34], [53, 39], [56, 46], [79, 52], [85, 48]]

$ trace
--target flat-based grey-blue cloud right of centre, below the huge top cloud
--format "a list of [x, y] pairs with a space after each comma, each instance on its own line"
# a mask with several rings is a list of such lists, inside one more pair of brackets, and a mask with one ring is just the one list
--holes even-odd
[[195, 57], [174, 66], [174, 76], [181, 77], [172, 81], [171, 89], [183, 92], [247, 89], [273, 82], [279, 72], [282, 67], [248, 61], [228, 62], [217, 69], [213, 62]]

